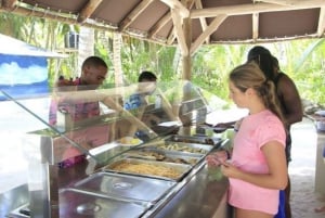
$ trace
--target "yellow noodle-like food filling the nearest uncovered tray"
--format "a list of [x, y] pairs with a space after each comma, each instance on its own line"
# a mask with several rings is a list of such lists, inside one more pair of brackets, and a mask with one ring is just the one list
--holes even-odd
[[113, 166], [110, 169], [116, 171], [131, 172], [131, 174], [140, 174], [140, 175], [151, 175], [158, 177], [167, 177], [170, 179], [178, 179], [181, 176], [181, 172], [167, 166], [158, 166], [146, 163], [136, 163], [131, 164], [127, 162], [122, 162]]

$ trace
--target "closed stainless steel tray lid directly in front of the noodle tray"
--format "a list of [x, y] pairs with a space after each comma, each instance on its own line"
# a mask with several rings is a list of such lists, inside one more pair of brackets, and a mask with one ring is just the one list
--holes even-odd
[[114, 198], [144, 201], [154, 204], [174, 184], [174, 181], [161, 179], [96, 172], [75, 183], [74, 188], [102, 193]]

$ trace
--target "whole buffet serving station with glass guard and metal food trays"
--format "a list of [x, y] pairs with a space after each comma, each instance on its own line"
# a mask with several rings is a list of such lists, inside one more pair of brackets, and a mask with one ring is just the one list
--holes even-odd
[[[11, 190], [25, 201], [6, 198], [6, 217], [227, 217], [227, 180], [205, 163], [232, 131], [206, 125], [214, 97], [188, 81], [139, 86], [55, 90], [55, 125], [3, 93], [46, 126], [26, 133], [27, 191]], [[134, 93], [145, 104], [125, 110]], [[101, 115], [72, 118], [80, 102], [100, 102]]]

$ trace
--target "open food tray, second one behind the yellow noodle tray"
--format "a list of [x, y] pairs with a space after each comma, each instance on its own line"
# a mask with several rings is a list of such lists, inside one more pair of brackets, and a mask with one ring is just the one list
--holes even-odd
[[166, 141], [165, 144], [159, 144], [155, 148], [162, 151], [182, 152], [200, 156], [207, 155], [213, 149], [213, 145]]

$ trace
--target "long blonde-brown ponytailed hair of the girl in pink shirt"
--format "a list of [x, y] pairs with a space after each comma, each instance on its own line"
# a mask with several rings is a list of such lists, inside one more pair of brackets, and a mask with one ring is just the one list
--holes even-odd
[[242, 92], [245, 92], [248, 88], [255, 89], [265, 107], [286, 125], [281, 112], [274, 82], [266, 79], [257, 63], [251, 61], [237, 66], [231, 72], [229, 79]]

